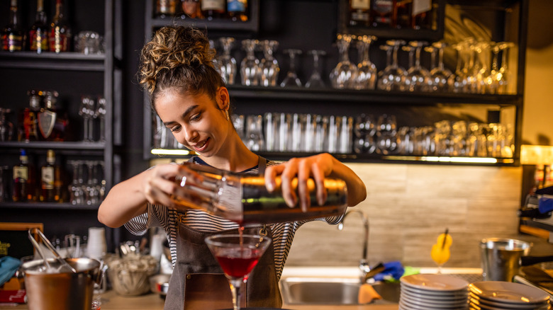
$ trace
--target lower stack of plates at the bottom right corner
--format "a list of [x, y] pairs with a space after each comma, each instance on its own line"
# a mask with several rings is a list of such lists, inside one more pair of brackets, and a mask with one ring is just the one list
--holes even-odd
[[503, 281], [469, 285], [469, 306], [471, 310], [551, 309], [549, 294], [541, 289]]

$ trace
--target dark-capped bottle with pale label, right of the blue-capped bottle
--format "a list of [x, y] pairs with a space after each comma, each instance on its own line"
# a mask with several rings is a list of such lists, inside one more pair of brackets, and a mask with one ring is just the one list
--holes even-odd
[[49, 149], [46, 164], [40, 168], [40, 201], [62, 202], [62, 169], [55, 162], [55, 152]]

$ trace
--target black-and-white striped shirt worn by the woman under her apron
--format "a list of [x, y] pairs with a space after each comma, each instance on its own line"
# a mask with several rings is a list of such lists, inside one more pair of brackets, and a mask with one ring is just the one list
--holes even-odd
[[[267, 161], [267, 166], [272, 166], [274, 164], [274, 161]], [[256, 166], [244, 173], [258, 174], [259, 172]], [[329, 224], [337, 224], [341, 219], [342, 216], [326, 217], [316, 220], [326, 221]], [[273, 234], [274, 246], [274, 266], [278, 279], [280, 279], [282, 274], [282, 268], [284, 268], [284, 263], [286, 263], [286, 258], [288, 257], [296, 231], [302, 224], [309, 221], [311, 220], [271, 224], [270, 227]], [[183, 213], [174, 209], [169, 209], [164, 205], [152, 205], [150, 202], [147, 203], [147, 213], [141, 214], [125, 223], [125, 228], [132, 234], [143, 235], [146, 233], [148, 227], [162, 227], [165, 234], [167, 234], [169, 250], [171, 251], [171, 259], [174, 267], [175, 263], [177, 263], [177, 226], [179, 222], [188, 225], [192, 229], [206, 232], [238, 228], [238, 224], [235, 222], [208, 214], [201, 210], [188, 209], [186, 213]]]

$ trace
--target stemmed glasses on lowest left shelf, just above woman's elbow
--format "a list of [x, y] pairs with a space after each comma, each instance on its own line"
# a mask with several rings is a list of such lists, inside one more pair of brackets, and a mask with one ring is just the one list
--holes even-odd
[[69, 202], [72, 205], [97, 205], [104, 200], [106, 180], [104, 161], [67, 161], [72, 166]]

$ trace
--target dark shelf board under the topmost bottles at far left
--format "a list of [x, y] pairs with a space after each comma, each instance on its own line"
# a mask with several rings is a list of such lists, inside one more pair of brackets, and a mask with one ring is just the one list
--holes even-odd
[[105, 54], [0, 52], [0, 68], [104, 71]]

